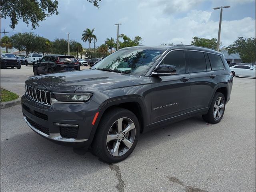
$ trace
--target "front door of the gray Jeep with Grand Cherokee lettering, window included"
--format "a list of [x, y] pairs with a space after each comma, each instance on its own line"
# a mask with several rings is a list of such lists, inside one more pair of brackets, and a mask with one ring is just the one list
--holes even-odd
[[176, 74], [150, 77], [152, 82], [151, 124], [161, 124], [186, 116], [190, 95], [190, 75], [183, 50], [167, 53], [160, 65], [176, 66]]

